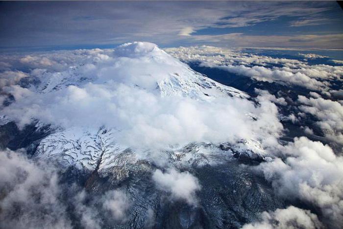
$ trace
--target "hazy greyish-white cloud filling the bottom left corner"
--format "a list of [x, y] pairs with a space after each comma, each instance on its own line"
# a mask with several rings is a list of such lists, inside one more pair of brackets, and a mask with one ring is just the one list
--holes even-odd
[[0, 161], [1, 228], [72, 228], [53, 167], [9, 150]]

